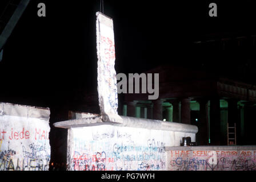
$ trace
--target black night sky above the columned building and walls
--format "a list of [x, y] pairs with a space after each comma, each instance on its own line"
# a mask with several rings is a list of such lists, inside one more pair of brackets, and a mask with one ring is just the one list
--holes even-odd
[[[37, 16], [39, 2], [46, 4], [46, 17]], [[210, 2], [217, 3], [218, 17], [209, 16]], [[237, 68], [250, 64], [243, 81], [253, 82], [256, 59], [251, 47], [237, 56], [234, 50], [227, 55], [218, 46], [199, 49], [193, 43], [256, 35], [252, 2], [105, 0], [104, 14], [114, 20], [117, 73], [173, 64], [236, 78]], [[68, 102], [77, 90], [97, 90], [99, 3], [32, 0], [4, 47], [0, 101], [51, 106]]]

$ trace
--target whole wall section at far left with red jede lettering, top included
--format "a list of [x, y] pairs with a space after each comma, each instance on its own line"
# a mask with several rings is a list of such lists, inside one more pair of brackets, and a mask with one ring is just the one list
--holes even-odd
[[0, 102], [0, 171], [47, 171], [50, 110]]

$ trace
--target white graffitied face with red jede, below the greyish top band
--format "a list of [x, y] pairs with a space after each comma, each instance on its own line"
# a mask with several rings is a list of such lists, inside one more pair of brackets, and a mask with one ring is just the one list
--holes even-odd
[[1, 121], [0, 171], [46, 171], [49, 168], [49, 124], [46, 121]]

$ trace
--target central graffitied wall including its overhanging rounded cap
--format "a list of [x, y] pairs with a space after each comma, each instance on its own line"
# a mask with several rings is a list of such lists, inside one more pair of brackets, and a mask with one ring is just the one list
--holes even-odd
[[166, 146], [182, 137], [195, 141], [197, 126], [123, 117], [102, 122], [99, 115], [54, 123], [68, 129], [67, 169], [74, 171], [167, 170]]

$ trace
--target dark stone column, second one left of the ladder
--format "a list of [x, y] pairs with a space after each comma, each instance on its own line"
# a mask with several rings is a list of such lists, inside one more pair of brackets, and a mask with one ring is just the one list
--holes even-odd
[[206, 145], [209, 143], [209, 131], [208, 131], [208, 100], [198, 100], [200, 105], [199, 121], [198, 121], [198, 133], [197, 144]]

